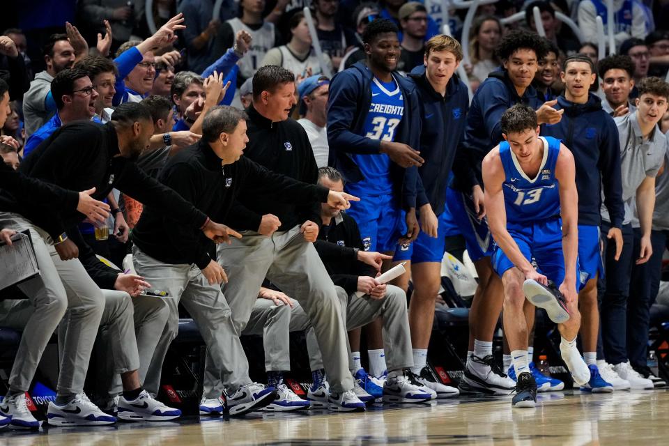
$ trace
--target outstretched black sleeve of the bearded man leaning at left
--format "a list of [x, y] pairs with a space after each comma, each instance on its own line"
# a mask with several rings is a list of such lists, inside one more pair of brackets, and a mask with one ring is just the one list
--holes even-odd
[[[197, 176], [197, 175], [196, 175]], [[181, 177], [187, 177], [182, 175]], [[178, 187], [185, 188], [187, 180], [178, 178], [175, 180]], [[144, 206], [151, 206], [164, 211], [172, 220], [189, 226], [190, 228], [200, 229], [207, 220], [207, 216], [195, 208], [191, 203], [197, 194], [183, 197], [183, 192], [175, 192], [166, 184], [151, 178], [144, 173], [134, 162], [125, 164], [125, 169], [116, 183], [116, 188], [124, 194], [136, 199]], [[190, 191], [190, 190], [189, 190]]]

